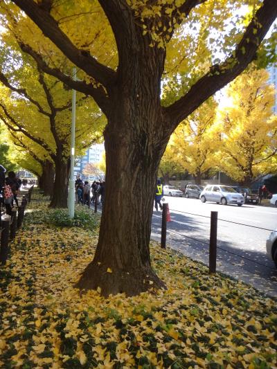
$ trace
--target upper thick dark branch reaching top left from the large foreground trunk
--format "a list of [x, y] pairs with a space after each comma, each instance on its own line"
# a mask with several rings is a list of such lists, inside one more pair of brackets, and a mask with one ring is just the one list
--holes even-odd
[[48, 9], [40, 7], [33, 0], [12, 0], [42, 30], [44, 35], [60, 48], [62, 53], [103, 86], [112, 84], [116, 72], [91, 57], [87, 51], [78, 49], [59, 28], [57, 21], [51, 17]]

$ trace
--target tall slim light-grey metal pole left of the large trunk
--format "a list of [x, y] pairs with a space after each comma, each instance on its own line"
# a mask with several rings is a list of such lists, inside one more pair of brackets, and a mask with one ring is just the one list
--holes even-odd
[[[73, 68], [73, 81], [76, 80], [76, 69]], [[75, 118], [76, 118], [76, 91], [72, 90], [72, 116], [71, 116], [71, 153], [70, 153], [70, 179], [69, 179], [69, 217], [74, 217], [75, 186], [74, 186], [74, 161], [75, 161]]]

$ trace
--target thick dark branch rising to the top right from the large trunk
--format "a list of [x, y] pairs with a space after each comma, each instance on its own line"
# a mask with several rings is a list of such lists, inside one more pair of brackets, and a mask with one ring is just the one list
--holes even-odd
[[277, 17], [276, 0], [264, 0], [257, 10], [244, 35], [235, 48], [235, 56], [228, 57], [224, 63], [214, 65], [200, 78], [185, 96], [169, 107], [163, 108], [166, 116], [165, 129], [172, 131], [207, 98], [237, 77], [256, 57], [258, 46]]

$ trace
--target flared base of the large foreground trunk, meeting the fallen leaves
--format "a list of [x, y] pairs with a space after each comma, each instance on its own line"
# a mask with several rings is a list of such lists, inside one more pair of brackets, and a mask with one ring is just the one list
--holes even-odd
[[136, 296], [144, 291], [167, 289], [150, 266], [115, 271], [99, 262], [91, 262], [87, 266], [75, 287], [96, 289], [105, 297], [123, 293], [126, 296]]

